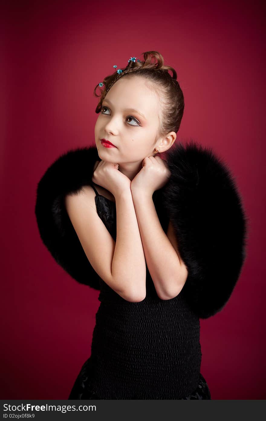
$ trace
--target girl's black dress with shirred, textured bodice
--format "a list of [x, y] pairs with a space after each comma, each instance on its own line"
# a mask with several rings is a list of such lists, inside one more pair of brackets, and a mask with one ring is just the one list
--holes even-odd
[[[116, 240], [116, 204], [99, 195], [98, 215]], [[153, 202], [164, 232], [161, 191]], [[132, 303], [100, 280], [91, 356], [68, 399], [211, 399], [200, 373], [200, 323], [181, 293], [161, 300], [146, 264], [146, 297]]]

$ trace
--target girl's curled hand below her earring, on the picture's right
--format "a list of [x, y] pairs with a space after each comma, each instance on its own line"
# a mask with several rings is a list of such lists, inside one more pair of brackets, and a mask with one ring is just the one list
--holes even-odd
[[167, 164], [160, 157], [150, 156], [142, 161], [142, 169], [131, 181], [130, 189], [143, 191], [147, 195], [153, 195], [155, 190], [161, 189], [171, 176]]

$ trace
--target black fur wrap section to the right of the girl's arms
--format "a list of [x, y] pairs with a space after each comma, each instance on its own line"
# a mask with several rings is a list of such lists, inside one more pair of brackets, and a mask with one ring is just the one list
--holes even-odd
[[240, 276], [248, 218], [236, 182], [211, 148], [179, 143], [167, 151], [167, 163], [163, 207], [189, 273], [182, 291], [205, 319], [225, 306]]

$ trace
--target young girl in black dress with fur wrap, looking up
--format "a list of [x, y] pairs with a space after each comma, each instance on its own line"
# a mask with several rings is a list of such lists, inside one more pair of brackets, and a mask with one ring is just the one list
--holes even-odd
[[37, 189], [42, 241], [100, 290], [91, 355], [68, 399], [211, 399], [199, 319], [232, 294], [247, 218], [211, 149], [174, 144], [184, 97], [161, 54], [113, 67], [99, 83], [95, 146], [61, 155]]

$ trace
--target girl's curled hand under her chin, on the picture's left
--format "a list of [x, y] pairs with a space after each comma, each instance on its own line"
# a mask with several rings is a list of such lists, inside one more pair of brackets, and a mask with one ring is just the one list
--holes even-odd
[[[96, 166], [97, 165], [97, 166]], [[119, 171], [119, 164], [96, 161], [92, 181], [109, 190], [114, 197], [130, 188], [130, 179]]]

